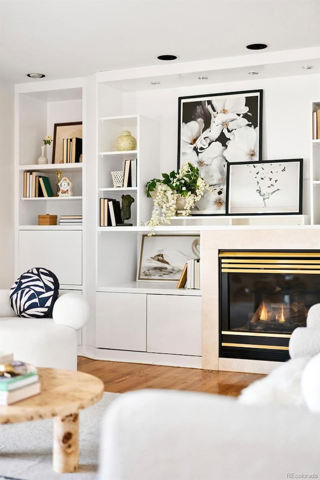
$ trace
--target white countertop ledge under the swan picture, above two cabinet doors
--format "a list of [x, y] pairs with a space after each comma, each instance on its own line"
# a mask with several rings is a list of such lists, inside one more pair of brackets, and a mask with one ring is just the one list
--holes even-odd
[[176, 288], [178, 280], [172, 282], [159, 281], [128, 281], [115, 285], [97, 286], [96, 291], [121, 293], [160, 293], [165, 295], [201, 296], [201, 290], [191, 288]]

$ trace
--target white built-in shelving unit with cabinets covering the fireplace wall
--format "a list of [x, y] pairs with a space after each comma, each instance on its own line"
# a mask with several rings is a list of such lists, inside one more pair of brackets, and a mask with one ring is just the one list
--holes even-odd
[[[141, 237], [148, 233], [143, 223], [153, 206], [145, 195], [145, 183], [177, 168], [179, 96], [263, 89], [262, 159], [303, 157], [303, 212], [176, 216], [170, 225], [156, 227], [157, 235], [197, 233], [201, 237], [207, 229], [236, 232], [256, 225], [267, 234], [269, 227], [320, 224], [320, 140], [308, 137], [310, 102], [311, 110], [320, 108], [320, 101], [312, 101], [320, 97], [318, 74], [316, 68], [313, 73], [303, 70], [302, 77], [300, 65], [302, 57], [313, 58], [317, 53], [305, 50], [292, 51], [290, 61], [287, 52], [252, 53], [250, 60], [244, 55], [236, 61], [172, 63], [15, 86], [16, 274], [47, 264], [62, 289], [85, 294], [91, 315], [81, 353], [110, 360], [201, 366], [201, 290], [177, 289], [176, 282], [136, 281]], [[257, 78], [247, 75], [248, 62], [263, 65]], [[199, 76], [208, 79], [200, 81]], [[152, 84], [154, 79], [160, 84]], [[285, 111], [285, 116], [279, 111]], [[52, 164], [50, 146], [46, 148], [49, 163], [37, 165], [42, 139], [53, 135], [54, 123], [79, 120], [83, 163]], [[116, 151], [115, 139], [122, 130], [130, 130], [136, 138], [136, 150]], [[136, 187], [114, 188], [111, 171], [123, 169], [126, 159], [135, 158]], [[57, 167], [73, 182], [73, 197], [23, 198], [23, 171], [45, 172], [53, 186]], [[122, 194], [134, 198], [127, 220], [132, 226], [100, 226], [100, 198], [121, 201]], [[81, 213], [83, 224], [39, 226], [37, 215], [43, 213], [58, 217]]]

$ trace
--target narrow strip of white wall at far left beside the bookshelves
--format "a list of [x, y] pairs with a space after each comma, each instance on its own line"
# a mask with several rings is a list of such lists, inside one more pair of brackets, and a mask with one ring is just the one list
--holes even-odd
[[0, 83], [0, 288], [14, 281], [14, 85]]

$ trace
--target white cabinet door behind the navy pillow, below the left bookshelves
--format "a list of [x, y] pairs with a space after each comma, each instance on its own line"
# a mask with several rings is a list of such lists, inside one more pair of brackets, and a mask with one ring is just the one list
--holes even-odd
[[34, 266], [51, 270], [61, 285], [81, 285], [82, 231], [20, 230], [18, 274]]

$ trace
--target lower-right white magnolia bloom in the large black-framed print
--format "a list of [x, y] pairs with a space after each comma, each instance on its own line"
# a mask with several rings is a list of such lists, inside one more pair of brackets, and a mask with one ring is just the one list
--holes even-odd
[[234, 131], [234, 138], [229, 140], [224, 156], [227, 161], [257, 161], [256, 128], [243, 126]]

